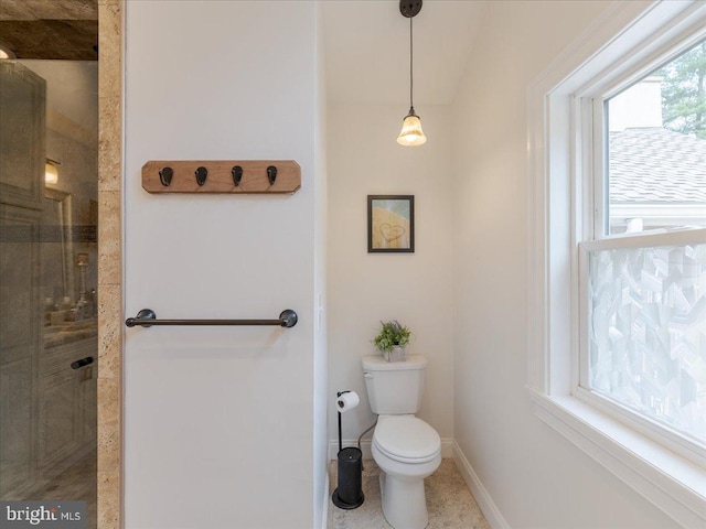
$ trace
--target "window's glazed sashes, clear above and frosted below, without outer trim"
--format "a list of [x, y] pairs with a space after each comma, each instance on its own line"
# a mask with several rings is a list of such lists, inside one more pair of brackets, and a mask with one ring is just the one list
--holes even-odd
[[[693, 39], [693, 37], [692, 37]], [[706, 447], [706, 40], [637, 83], [577, 94], [593, 163], [581, 229], [577, 395], [696, 462]], [[664, 55], [664, 52], [661, 54]], [[611, 91], [618, 93], [606, 96]], [[578, 126], [578, 125], [577, 125]], [[598, 147], [597, 147], [598, 145]]]

